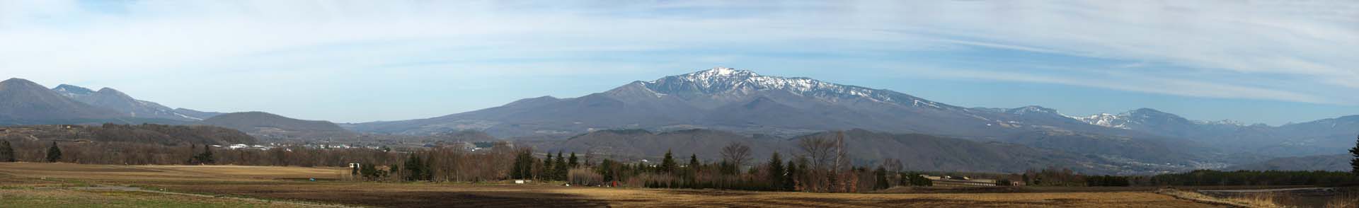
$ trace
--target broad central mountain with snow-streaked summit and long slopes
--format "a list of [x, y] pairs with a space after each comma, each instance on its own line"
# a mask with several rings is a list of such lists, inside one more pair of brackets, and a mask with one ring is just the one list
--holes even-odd
[[579, 98], [541, 97], [435, 118], [345, 126], [359, 132], [400, 135], [482, 131], [497, 137], [559, 139], [599, 129], [666, 132], [699, 128], [794, 137], [859, 128], [1000, 140], [1161, 163], [1195, 158], [1182, 152], [1211, 152], [1171, 151], [1199, 145], [1182, 141], [1170, 145], [1165, 137], [1089, 125], [1040, 106], [966, 109], [892, 90], [810, 77], [766, 76], [733, 68], [632, 82]]

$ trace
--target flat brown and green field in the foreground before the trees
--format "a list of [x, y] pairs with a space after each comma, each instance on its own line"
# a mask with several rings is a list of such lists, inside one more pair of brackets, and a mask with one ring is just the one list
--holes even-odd
[[[130, 207], [1214, 207], [1144, 189], [1014, 190], [1019, 193], [935, 193], [947, 190], [897, 189], [905, 193], [863, 194], [332, 181], [347, 171], [347, 169], [325, 167], [0, 163], [0, 204], [26, 203], [41, 207], [45, 201], [68, 201], [63, 198], [99, 201], [92, 196], [103, 196], [107, 197], [103, 201], [122, 200], [133, 204]], [[147, 190], [163, 189], [173, 193], [227, 197], [183, 194], [159, 197], [158, 193], [145, 192], [71, 190], [76, 189], [75, 186], [136, 186]], [[160, 204], [149, 201], [151, 204], [139, 205], [147, 203], [145, 200], [159, 200]], [[166, 203], [167, 200], [183, 204]]]

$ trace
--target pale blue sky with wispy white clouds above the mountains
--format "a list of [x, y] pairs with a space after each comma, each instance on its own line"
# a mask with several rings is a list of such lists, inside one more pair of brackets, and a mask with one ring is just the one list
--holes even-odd
[[0, 0], [0, 76], [336, 122], [713, 67], [1064, 114], [1359, 114], [1359, 3]]

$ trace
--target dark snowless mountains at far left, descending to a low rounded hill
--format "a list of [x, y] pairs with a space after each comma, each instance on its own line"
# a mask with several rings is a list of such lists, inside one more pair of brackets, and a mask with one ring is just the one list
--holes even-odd
[[0, 82], [0, 125], [105, 122], [215, 125], [269, 140], [356, 137], [356, 133], [329, 121], [304, 121], [262, 111], [171, 109], [107, 87], [94, 91], [71, 84], [46, 88], [24, 79]]

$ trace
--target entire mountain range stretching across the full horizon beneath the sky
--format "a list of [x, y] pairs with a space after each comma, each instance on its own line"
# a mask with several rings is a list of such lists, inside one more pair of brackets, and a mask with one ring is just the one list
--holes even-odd
[[541, 150], [624, 158], [665, 150], [713, 156], [727, 143], [750, 144], [757, 155], [790, 152], [795, 140], [847, 131], [855, 141], [852, 155], [863, 162], [920, 159], [934, 163], [915, 166], [962, 171], [1048, 164], [1113, 174], [1224, 169], [1279, 156], [1339, 154], [1359, 133], [1359, 116], [1282, 126], [1193, 121], [1154, 109], [1067, 116], [1042, 106], [962, 107], [892, 90], [733, 68], [632, 82], [578, 98], [526, 98], [432, 118], [340, 125], [262, 111], [170, 109], [113, 88], [43, 88], [22, 79], [0, 83], [0, 105], [14, 106], [0, 110], [0, 125], [197, 124], [303, 141], [372, 135], [429, 141], [506, 139]]

